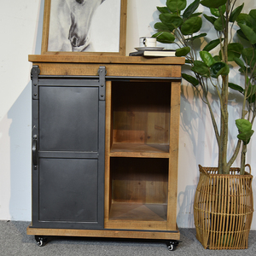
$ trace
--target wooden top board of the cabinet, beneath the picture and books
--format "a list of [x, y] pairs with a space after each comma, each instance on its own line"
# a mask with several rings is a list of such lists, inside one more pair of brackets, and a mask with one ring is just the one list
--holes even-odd
[[111, 64], [154, 64], [154, 65], [183, 65], [183, 57], [151, 57], [141, 56], [108, 56], [108, 55], [28, 55], [31, 62], [51, 63], [111, 63]]

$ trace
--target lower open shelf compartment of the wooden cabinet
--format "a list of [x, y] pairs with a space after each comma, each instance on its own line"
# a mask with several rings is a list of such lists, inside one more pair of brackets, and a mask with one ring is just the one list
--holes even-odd
[[166, 221], [168, 159], [110, 160], [109, 220]]

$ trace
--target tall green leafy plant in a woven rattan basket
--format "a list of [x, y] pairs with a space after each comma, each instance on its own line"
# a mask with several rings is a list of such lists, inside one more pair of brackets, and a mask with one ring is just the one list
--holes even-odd
[[[200, 4], [211, 15], [197, 12]], [[193, 84], [211, 115], [218, 167], [200, 166], [194, 204], [196, 236], [211, 249], [246, 248], [253, 218], [253, 177], [245, 172], [245, 163], [256, 115], [256, 9], [243, 14], [243, 5], [236, 7], [236, 0], [195, 0], [187, 6], [186, 0], [167, 0], [165, 7], [157, 7], [160, 22], [154, 24], [158, 32], [153, 37], [161, 43], [177, 44], [176, 55], [186, 57], [190, 72], [183, 73], [183, 79]], [[201, 32], [203, 22], [214, 26], [217, 37], [198, 50], [195, 41], [204, 44], [207, 38], [207, 33]], [[234, 41], [234, 29], [242, 44]], [[230, 82], [230, 64], [240, 67], [243, 84]], [[209, 90], [218, 96], [218, 116], [213, 113]], [[241, 118], [236, 120], [237, 143], [228, 159], [228, 99], [232, 90], [241, 93], [242, 102]], [[240, 168], [231, 167], [240, 152]]]

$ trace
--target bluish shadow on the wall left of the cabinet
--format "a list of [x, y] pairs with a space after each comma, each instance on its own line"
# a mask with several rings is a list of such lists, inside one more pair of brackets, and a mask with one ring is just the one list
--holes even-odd
[[10, 218], [31, 219], [31, 83], [8, 113], [10, 138]]

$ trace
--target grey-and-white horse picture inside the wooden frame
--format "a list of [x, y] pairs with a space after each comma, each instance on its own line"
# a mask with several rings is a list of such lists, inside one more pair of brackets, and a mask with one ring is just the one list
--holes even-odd
[[48, 51], [119, 52], [120, 0], [51, 0]]

